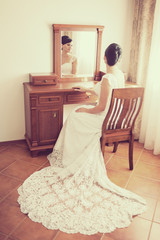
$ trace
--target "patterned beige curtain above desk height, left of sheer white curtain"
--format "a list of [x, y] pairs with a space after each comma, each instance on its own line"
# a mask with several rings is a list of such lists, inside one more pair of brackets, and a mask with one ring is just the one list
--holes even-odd
[[134, 0], [128, 80], [145, 86], [156, 0]]

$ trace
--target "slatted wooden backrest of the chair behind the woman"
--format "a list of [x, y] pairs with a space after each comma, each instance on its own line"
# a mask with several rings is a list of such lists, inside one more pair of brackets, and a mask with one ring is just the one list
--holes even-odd
[[113, 89], [102, 132], [111, 129], [133, 128], [142, 105], [143, 94], [144, 88], [142, 87]]

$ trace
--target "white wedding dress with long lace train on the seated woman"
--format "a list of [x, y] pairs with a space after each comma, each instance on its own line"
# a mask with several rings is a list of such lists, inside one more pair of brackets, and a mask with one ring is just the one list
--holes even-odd
[[[120, 87], [113, 75], [102, 81], [106, 78], [112, 88]], [[108, 107], [109, 101], [100, 114], [70, 113], [48, 156], [51, 166], [33, 173], [18, 189], [21, 211], [30, 219], [48, 229], [90, 235], [127, 227], [132, 216], [145, 211], [141, 197], [107, 177], [100, 136]]]

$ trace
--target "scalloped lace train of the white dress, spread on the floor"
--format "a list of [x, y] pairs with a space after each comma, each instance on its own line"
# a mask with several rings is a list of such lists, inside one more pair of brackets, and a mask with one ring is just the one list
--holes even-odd
[[61, 179], [52, 167], [34, 173], [18, 192], [23, 213], [48, 229], [67, 233], [111, 232], [145, 210], [144, 204], [104, 189], [89, 176]]

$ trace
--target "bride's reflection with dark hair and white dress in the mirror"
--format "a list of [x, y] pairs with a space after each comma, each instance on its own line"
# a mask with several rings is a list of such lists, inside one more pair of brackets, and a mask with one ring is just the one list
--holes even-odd
[[68, 36], [62, 36], [62, 75], [76, 74], [77, 72], [77, 58], [72, 55], [72, 39]]

